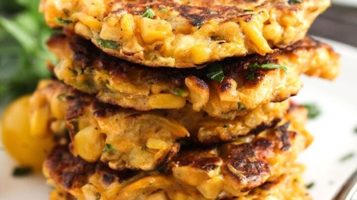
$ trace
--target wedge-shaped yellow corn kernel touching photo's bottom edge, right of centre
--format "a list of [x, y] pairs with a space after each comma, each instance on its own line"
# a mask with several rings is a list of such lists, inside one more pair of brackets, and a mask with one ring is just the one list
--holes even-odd
[[214, 199], [218, 197], [223, 188], [223, 178], [221, 176], [213, 177], [199, 186], [197, 190], [207, 199]]

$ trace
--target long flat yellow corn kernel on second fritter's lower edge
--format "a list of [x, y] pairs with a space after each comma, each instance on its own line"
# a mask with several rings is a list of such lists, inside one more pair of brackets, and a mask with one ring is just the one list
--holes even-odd
[[153, 94], [149, 96], [151, 109], [175, 109], [182, 108], [186, 99], [175, 94]]

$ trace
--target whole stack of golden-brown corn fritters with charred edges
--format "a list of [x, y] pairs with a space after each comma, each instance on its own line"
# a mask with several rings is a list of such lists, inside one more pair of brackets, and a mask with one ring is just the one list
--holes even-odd
[[[301, 74], [339, 56], [305, 37], [330, 0], [42, 0], [63, 34], [31, 97], [52, 134], [50, 199], [309, 199]], [[184, 69], [183, 69], [184, 68]]]

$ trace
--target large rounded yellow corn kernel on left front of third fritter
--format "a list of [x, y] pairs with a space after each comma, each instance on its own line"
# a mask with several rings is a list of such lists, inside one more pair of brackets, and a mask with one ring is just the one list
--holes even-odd
[[76, 153], [88, 162], [99, 159], [105, 146], [104, 135], [97, 127], [87, 126], [74, 136], [74, 148]]

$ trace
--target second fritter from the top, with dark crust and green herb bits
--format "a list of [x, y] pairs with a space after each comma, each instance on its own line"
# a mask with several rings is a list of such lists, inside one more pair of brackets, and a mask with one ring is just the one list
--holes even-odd
[[[200, 69], [140, 66], [109, 56], [88, 40], [63, 35], [52, 37], [48, 45], [60, 59], [54, 72], [64, 83], [96, 94], [103, 102], [142, 111], [179, 109], [189, 101], [195, 111], [232, 119], [244, 114], [241, 110], [297, 94], [302, 73], [329, 80], [339, 73], [339, 56], [311, 38], [266, 56], [225, 59]], [[287, 73], [254, 67], [264, 64], [286, 66]], [[211, 80], [207, 77], [211, 71], [225, 78]]]

